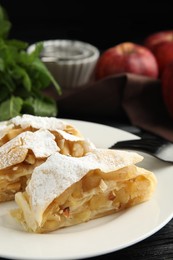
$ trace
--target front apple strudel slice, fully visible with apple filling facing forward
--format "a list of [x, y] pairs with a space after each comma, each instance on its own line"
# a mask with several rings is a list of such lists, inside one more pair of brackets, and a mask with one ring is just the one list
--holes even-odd
[[18, 208], [11, 211], [28, 232], [51, 232], [112, 214], [148, 200], [155, 175], [135, 164], [135, 152], [95, 149], [76, 158], [51, 155], [36, 167]]

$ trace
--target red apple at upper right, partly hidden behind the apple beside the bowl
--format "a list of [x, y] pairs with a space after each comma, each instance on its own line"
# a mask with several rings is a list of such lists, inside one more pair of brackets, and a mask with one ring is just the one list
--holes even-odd
[[161, 77], [165, 66], [173, 61], [173, 30], [149, 35], [144, 40], [144, 45], [149, 48], [156, 57], [159, 66], [159, 75]]

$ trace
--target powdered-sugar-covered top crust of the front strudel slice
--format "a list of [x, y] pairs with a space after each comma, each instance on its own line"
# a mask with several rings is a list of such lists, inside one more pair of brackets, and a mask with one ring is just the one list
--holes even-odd
[[80, 158], [59, 153], [51, 155], [45, 163], [35, 168], [26, 188], [36, 221], [41, 223], [42, 214], [53, 199], [90, 170], [111, 172], [142, 159], [134, 152], [108, 149], [95, 149]]

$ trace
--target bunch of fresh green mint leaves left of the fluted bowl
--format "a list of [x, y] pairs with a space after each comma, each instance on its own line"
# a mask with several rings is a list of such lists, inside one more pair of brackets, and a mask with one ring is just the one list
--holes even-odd
[[0, 120], [8, 120], [21, 113], [57, 115], [55, 100], [43, 96], [42, 90], [52, 83], [61, 88], [41, 60], [43, 43], [27, 52], [28, 43], [8, 39], [11, 23], [0, 5]]

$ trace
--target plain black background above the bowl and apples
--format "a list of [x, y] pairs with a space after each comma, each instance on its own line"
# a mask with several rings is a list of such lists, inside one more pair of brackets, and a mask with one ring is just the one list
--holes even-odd
[[171, 1], [1, 0], [12, 22], [11, 38], [33, 43], [76, 39], [100, 50], [143, 43], [151, 33], [173, 29]]

